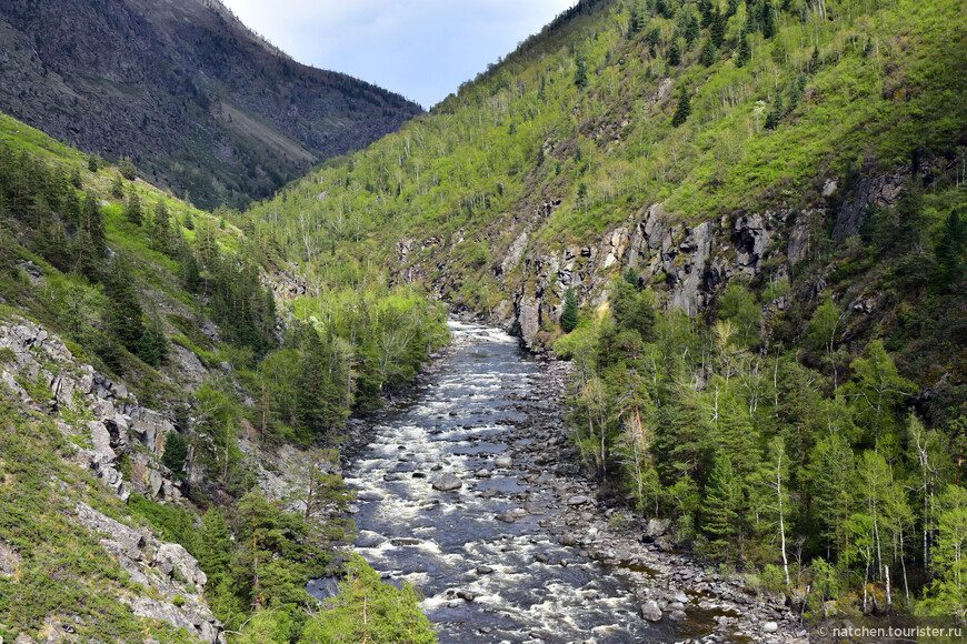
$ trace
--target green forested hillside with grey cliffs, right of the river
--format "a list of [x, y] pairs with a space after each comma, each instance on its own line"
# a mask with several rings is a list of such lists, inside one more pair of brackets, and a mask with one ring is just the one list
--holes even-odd
[[945, 0], [581, 2], [238, 221], [574, 359], [589, 469], [678, 545], [963, 617], [965, 38]]

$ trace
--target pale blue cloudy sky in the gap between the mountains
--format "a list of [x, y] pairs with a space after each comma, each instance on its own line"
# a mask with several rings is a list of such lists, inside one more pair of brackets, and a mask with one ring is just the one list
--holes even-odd
[[222, 0], [297, 61], [429, 109], [576, 0]]

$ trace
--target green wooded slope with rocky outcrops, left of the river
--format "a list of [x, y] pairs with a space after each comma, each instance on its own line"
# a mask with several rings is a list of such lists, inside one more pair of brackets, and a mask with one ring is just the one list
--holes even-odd
[[411, 588], [337, 556], [337, 449], [443, 312], [263, 242], [0, 115], [0, 637], [433, 640]]

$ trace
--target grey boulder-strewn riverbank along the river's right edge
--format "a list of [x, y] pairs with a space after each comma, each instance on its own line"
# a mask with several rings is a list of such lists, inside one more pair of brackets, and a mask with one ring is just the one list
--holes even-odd
[[[686, 631], [695, 632], [695, 642], [808, 642], [808, 631], [790, 607], [760, 601], [741, 578], [724, 578], [689, 554], [670, 552], [668, 521], [646, 521], [598, 497], [600, 486], [586, 476], [562, 417], [570, 365], [542, 362], [535, 400], [521, 404], [528, 421], [516, 429], [518, 441], [511, 447], [515, 461], [527, 463], [526, 481], [552, 489], [557, 497], [557, 512], [540, 524], [561, 545], [574, 547], [576, 556], [626, 575], [644, 620], [691, 624]], [[521, 446], [519, 439], [527, 437], [535, 440]]]

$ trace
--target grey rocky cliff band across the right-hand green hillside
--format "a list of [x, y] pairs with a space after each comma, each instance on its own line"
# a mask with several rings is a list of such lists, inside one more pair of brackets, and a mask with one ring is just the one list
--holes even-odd
[[[940, 164], [941, 160], [925, 162], [921, 170], [929, 178]], [[780, 204], [776, 210], [722, 217], [694, 227], [677, 223], [662, 203], [655, 203], [607, 231], [595, 244], [556, 249], [535, 241], [560, 205], [560, 201], [547, 201], [530, 217], [509, 219], [508, 228], [505, 218], [485, 235], [495, 248], [490, 279], [502, 294], [488, 314], [519, 334], [529, 348], [541, 350], [547, 332], [560, 323], [568, 288], [575, 289], [586, 310], [594, 310], [606, 304], [615, 279], [634, 269], [640, 284], [661, 293], [667, 306], [695, 316], [714, 306], [735, 279], [789, 280], [797, 264], [817, 255], [820, 244], [847, 243], [859, 234], [871, 208], [897, 203], [909, 178], [910, 169], [905, 168], [859, 180], [847, 191], [830, 178], [814, 203]], [[463, 241], [459, 235], [449, 245], [439, 238], [402, 239], [396, 246], [400, 279], [428, 281], [439, 296], [451, 298], [465, 278], [449, 258]], [[828, 272], [805, 275], [797, 282], [798, 291], [778, 299], [772, 308], [782, 310], [792, 298], [815, 301], [827, 288], [824, 275]], [[861, 296], [849, 304], [869, 313], [870, 304]]]

